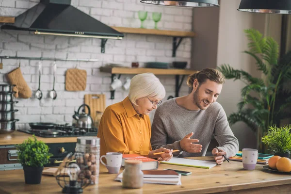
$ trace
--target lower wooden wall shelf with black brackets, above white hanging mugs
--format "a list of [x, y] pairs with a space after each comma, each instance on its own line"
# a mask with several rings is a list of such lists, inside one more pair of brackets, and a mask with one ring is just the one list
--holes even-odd
[[[179, 90], [181, 88], [185, 76], [196, 73], [198, 71], [191, 69], [154, 69], [154, 68], [128, 68], [128, 67], [102, 66], [100, 67], [100, 72], [111, 73], [111, 81], [113, 81], [116, 74], [119, 74], [118, 79], [120, 78], [121, 74], [153, 73], [155, 75], [175, 75], [176, 79], [175, 97], [178, 97]], [[181, 81], [180, 76], [182, 76]], [[114, 99], [114, 92], [115, 91], [111, 91], [111, 99]]]

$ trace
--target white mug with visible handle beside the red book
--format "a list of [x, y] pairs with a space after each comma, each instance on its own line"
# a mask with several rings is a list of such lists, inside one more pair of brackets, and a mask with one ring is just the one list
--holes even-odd
[[[106, 159], [106, 163], [107, 164], [105, 164], [102, 161], [102, 158]], [[121, 162], [122, 162], [122, 153], [119, 153], [119, 152], [108, 152], [108, 153], [106, 153], [106, 156], [103, 155], [103, 156], [100, 157], [100, 162], [104, 166], [106, 166], [106, 168], [108, 169], [108, 172], [110, 174], [117, 174], [117, 173], [119, 173]]]

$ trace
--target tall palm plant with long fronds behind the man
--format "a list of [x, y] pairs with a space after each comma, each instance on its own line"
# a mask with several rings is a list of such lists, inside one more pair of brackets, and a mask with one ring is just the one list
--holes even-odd
[[291, 117], [291, 91], [284, 88], [284, 83], [291, 81], [291, 51], [278, 60], [278, 43], [271, 37], [262, 37], [254, 29], [244, 31], [249, 40], [248, 51], [244, 53], [256, 60], [257, 69], [265, 79], [255, 78], [249, 73], [234, 69], [230, 65], [221, 65], [218, 69], [226, 79], [241, 80], [242, 100], [238, 103], [238, 111], [228, 116], [229, 124], [242, 121], [257, 132], [260, 151], [261, 137], [269, 126], [279, 126], [280, 121]]

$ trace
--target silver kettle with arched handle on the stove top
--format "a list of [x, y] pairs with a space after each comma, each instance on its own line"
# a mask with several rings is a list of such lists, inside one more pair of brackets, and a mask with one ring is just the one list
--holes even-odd
[[[80, 114], [80, 109], [82, 107], [87, 107], [88, 108], [88, 114], [85, 113], [85, 109], [82, 110], [82, 113]], [[83, 129], [91, 129], [94, 127], [94, 122], [93, 119], [91, 117], [91, 110], [90, 107], [87, 104], [82, 104], [79, 109], [78, 112], [75, 112], [75, 114], [73, 115], [73, 126], [77, 127], [77, 128], [83, 128]]]

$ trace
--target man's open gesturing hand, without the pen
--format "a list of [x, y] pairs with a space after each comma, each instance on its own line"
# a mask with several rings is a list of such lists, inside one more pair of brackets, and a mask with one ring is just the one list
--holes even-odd
[[199, 142], [197, 139], [190, 139], [190, 137], [194, 133], [189, 133], [186, 135], [181, 141], [180, 141], [180, 146], [183, 149], [183, 151], [186, 151], [188, 153], [200, 153], [202, 150], [202, 145], [200, 144], [193, 144]]

